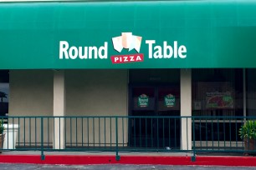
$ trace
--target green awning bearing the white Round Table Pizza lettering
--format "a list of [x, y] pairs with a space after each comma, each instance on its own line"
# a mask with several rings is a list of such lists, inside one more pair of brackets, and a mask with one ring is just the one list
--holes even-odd
[[250, 0], [0, 2], [0, 69], [256, 67], [255, 9]]

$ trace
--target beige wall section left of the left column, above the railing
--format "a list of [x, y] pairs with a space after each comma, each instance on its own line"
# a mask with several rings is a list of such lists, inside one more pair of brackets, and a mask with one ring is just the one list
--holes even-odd
[[51, 70], [10, 71], [10, 116], [51, 116], [53, 83]]

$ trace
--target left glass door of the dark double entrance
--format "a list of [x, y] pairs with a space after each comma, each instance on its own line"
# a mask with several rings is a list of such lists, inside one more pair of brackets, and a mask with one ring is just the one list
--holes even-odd
[[155, 87], [131, 87], [130, 146], [147, 147], [154, 143], [153, 116], [156, 116]]

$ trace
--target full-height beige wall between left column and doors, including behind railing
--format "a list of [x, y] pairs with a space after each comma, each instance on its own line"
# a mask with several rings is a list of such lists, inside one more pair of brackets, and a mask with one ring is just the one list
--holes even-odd
[[[127, 70], [69, 70], [65, 78], [66, 116], [128, 115]], [[115, 143], [115, 118], [73, 118], [66, 127], [66, 143], [69, 134], [72, 143]], [[119, 143], [127, 143], [126, 119], [118, 120], [118, 129]]]

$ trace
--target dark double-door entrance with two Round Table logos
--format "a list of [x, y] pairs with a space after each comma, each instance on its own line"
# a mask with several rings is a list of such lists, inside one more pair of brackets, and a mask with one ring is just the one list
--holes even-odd
[[180, 148], [180, 86], [131, 85], [129, 145]]

